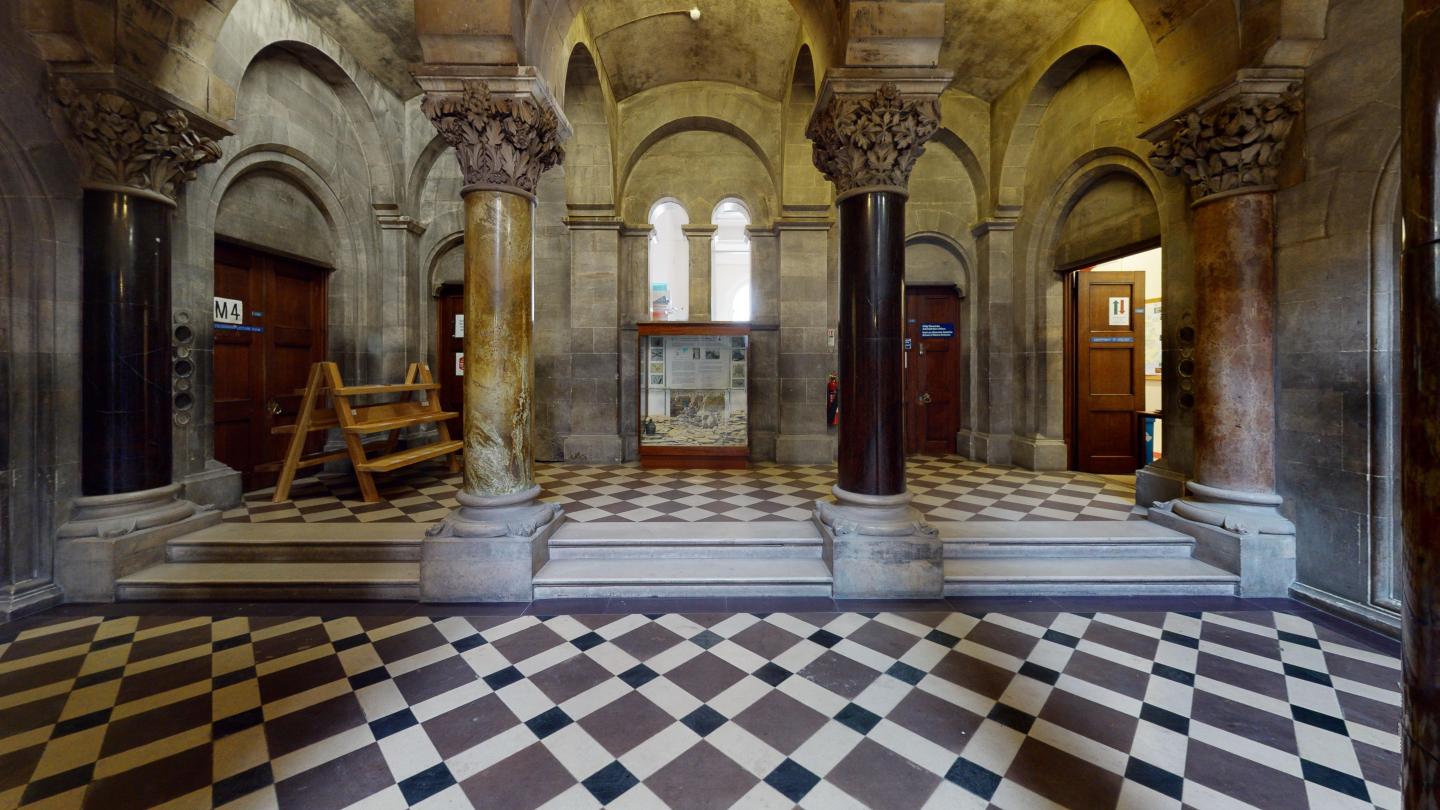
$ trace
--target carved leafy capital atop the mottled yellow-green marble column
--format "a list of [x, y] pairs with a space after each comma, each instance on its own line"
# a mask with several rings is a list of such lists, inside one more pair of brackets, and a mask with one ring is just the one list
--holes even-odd
[[455, 147], [467, 186], [518, 189], [533, 197], [540, 174], [564, 160], [564, 130], [554, 108], [524, 95], [491, 94], [485, 81], [464, 81], [459, 92], [429, 91], [420, 111]]

